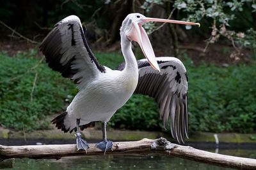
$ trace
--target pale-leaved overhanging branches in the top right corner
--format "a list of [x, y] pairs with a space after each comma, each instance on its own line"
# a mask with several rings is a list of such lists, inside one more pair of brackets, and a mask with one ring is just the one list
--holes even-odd
[[[176, 13], [175, 19], [190, 22], [200, 22], [200, 29], [193, 29], [192, 32], [208, 34], [207, 46], [216, 43], [220, 37], [226, 38], [236, 50], [232, 55], [240, 55], [241, 51], [236, 45], [242, 48], [249, 48], [255, 56], [255, 12], [256, 1], [253, 0], [146, 0], [141, 8], [146, 12], [152, 10], [154, 5], [160, 5], [166, 10], [167, 15]], [[169, 12], [168, 12], [169, 11]], [[186, 29], [191, 29], [186, 25]], [[209, 32], [211, 28], [211, 33]], [[156, 30], [156, 25], [145, 24], [148, 33]], [[193, 34], [195, 36], [195, 34]], [[245, 35], [245, 38], [244, 38]], [[207, 35], [206, 35], [207, 36]], [[205, 48], [206, 49], [206, 48]]]

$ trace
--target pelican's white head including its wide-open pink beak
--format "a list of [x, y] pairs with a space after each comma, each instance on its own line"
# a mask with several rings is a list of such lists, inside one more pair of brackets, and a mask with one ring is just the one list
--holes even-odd
[[140, 48], [143, 51], [145, 57], [148, 59], [148, 62], [157, 71], [160, 71], [160, 69], [157, 64], [155, 53], [148, 39], [146, 31], [142, 27], [142, 25], [145, 22], [169, 22], [173, 24], [200, 26], [199, 23], [194, 23], [194, 22], [166, 20], [166, 19], [160, 19], [160, 18], [148, 18], [148, 17], [145, 17], [144, 15], [141, 15], [140, 13], [131, 13], [127, 15], [120, 29], [121, 34], [125, 35], [126, 38], [129, 39], [129, 41], [136, 41], [140, 45]]

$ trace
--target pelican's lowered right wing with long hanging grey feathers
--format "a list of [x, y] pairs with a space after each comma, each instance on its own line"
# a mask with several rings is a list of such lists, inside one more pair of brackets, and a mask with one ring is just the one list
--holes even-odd
[[[164, 128], [170, 123], [173, 138], [188, 138], [188, 76], [182, 62], [174, 57], [157, 57], [161, 69], [153, 69], [146, 59], [138, 60], [139, 80], [134, 94], [154, 97]], [[117, 69], [122, 70], [125, 64]]]

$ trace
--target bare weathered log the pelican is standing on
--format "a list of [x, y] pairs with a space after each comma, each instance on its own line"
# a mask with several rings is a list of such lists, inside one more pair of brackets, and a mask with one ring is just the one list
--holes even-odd
[[[87, 152], [77, 151], [76, 145], [28, 145], [28, 146], [2, 146], [0, 145], [0, 159], [30, 158], [30, 159], [60, 159], [77, 155], [104, 154], [95, 144], [89, 144]], [[148, 154], [161, 153], [166, 156], [181, 157], [207, 164], [234, 169], [256, 169], [256, 159], [233, 157], [218, 153], [198, 150], [191, 146], [182, 146], [170, 143], [164, 138], [142, 139], [140, 141], [114, 142], [112, 151], [106, 154]]]

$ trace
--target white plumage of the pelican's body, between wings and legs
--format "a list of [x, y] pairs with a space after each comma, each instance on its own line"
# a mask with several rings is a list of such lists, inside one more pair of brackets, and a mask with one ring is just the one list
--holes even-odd
[[137, 75], [124, 74], [108, 69], [84, 86], [67, 108], [66, 128], [74, 129], [76, 118], [81, 118], [81, 125], [95, 121], [108, 122], [136, 89]]

